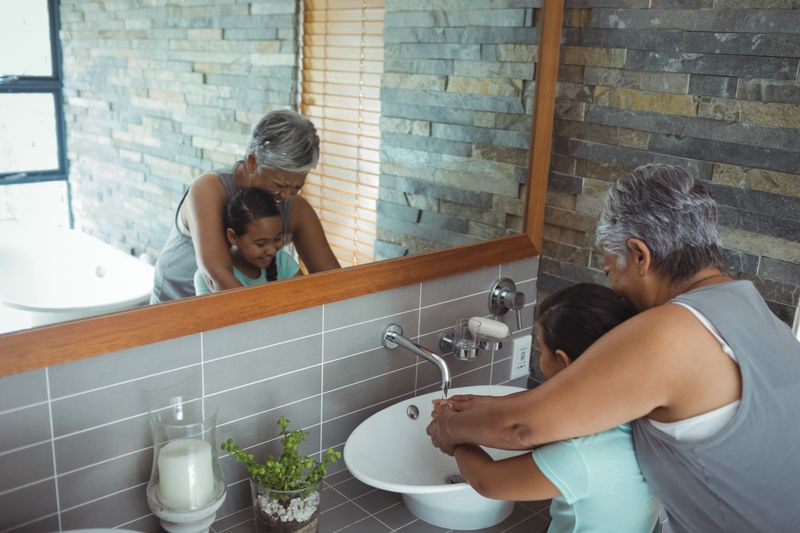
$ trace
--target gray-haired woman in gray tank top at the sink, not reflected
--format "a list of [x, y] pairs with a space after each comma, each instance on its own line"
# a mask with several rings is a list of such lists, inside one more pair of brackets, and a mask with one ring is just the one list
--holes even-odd
[[751, 282], [723, 274], [716, 222], [682, 169], [621, 178], [597, 240], [611, 287], [640, 313], [536, 389], [453, 398], [428, 427], [434, 445], [522, 450], [634, 421], [673, 530], [797, 531], [800, 343]]

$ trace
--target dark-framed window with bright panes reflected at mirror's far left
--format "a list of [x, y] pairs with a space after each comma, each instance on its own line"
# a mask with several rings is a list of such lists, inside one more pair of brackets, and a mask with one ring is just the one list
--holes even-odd
[[0, 184], [66, 179], [56, 0], [0, 0]]

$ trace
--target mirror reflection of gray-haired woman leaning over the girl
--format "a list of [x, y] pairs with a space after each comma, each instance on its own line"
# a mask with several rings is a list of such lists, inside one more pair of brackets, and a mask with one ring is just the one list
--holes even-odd
[[203, 174], [184, 194], [156, 262], [150, 303], [194, 296], [198, 268], [214, 292], [242, 286], [233, 275], [222, 219], [227, 199], [247, 187], [280, 201], [285, 239], [295, 244], [309, 272], [339, 268], [317, 214], [296, 196], [318, 159], [319, 137], [311, 121], [287, 110], [265, 115], [244, 161], [229, 171]]

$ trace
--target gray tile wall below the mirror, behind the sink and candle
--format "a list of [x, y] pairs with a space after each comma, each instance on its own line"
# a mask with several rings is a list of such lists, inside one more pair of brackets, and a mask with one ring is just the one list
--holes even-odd
[[[501, 264], [0, 378], [0, 531], [158, 531], [145, 498], [147, 407], [174, 395], [217, 403], [218, 440], [257, 456], [275, 451], [281, 415], [310, 433], [307, 453], [341, 449], [362, 420], [438, 383], [429, 363], [381, 347], [386, 324], [435, 349], [457, 317], [488, 316], [489, 287], [508, 276], [528, 297], [515, 334], [530, 333], [538, 268], [538, 258]], [[516, 328], [510, 313], [501, 318]], [[508, 381], [507, 349], [450, 364], [454, 386]], [[230, 456], [221, 464], [224, 529], [249, 507], [249, 485]]]

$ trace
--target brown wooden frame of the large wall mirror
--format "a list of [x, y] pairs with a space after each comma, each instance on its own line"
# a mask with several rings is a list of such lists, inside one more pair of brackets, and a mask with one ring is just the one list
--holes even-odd
[[[564, 0], [544, 0], [525, 233], [0, 335], [0, 376], [297, 311], [541, 252]], [[291, 283], [289, 283], [291, 281]]]

